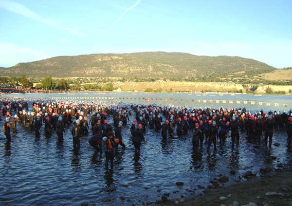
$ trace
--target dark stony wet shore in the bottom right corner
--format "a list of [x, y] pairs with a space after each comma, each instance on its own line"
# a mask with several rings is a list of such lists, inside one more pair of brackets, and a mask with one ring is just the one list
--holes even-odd
[[[275, 192], [268, 196], [268, 192]], [[227, 197], [231, 194], [231, 197]], [[220, 197], [226, 200], [220, 200]], [[182, 202], [180, 202], [182, 201]], [[227, 186], [210, 189], [201, 196], [190, 199], [173, 200], [164, 206], [220, 206], [233, 205], [237, 201], [239, 206], [255, 203], [257, 206], [292, 206], [292, 169], [283, 169], [273, 173], [260, 174], [239, 183], [227, 183]]]

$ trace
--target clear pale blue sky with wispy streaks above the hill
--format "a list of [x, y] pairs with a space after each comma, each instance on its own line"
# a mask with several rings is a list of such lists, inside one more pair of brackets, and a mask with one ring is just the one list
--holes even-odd
[[292, 67], [292, 0], [0, 0], [0, 66], [183, 52]]

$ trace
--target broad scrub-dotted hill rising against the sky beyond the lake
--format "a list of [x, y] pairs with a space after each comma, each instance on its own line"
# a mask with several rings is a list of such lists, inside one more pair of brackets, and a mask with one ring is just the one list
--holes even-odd
[[144, 52], [56, 56], [4, 68], [2, 75], [33, 77], [173, 77], [208, 73], [269, 73], [275, 68], [238, 56], [195, 56], [186, 53]]

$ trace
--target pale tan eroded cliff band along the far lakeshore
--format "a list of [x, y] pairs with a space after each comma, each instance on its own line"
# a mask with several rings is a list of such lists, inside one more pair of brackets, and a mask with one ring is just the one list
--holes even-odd
[[292, 86], [277, 86], [277, 85], [241, 85], [233, 83], [219, 83], [219, 82], [139, 82], [139, 83], [116, 83], [115, 87], [121, 87], [123, 90], [128, 89], [128, 91], [144, 91], [147, 88], [162, 89], [167, 91], [172, 89], [178, 92], [232, 92], [240, 91], [245, 92], [248, 88], [255, 93], [266, 93], [266, 89], [271, 87], [274, 92], [284, 91], [289, 93]]

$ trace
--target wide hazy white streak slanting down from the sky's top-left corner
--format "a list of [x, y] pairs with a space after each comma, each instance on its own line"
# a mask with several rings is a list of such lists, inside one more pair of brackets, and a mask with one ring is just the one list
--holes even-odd
[[0, 8], [6, 9], [8, 11], [23, 15], [30, 19], [35, 19], [37, 21], [43, 22], [45, 24], [48, 24], [50, 26], [53, 26], [58, 29], [62, 29], [65, 31], [70, 32], [71, 34], [82, 36], [83, 34], [80, 33], [77, 29], [74, 28], [66, 28], [60, 23], [51, 20], [51, 19], [43, 19], [41, 16], [39, 16], [37, 13], [33, 12], [29, 8], [27, 8], [24, 5], [21, 5], [18, 2], [12, 1], [12, 0], [0, 0]]

